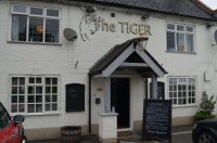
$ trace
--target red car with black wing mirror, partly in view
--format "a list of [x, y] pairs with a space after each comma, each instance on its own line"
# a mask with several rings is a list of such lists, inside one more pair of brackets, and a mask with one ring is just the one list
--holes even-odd
[[24, 116], [16, 115], [13, 120], [0, 102], [0, 143], [26, 143], [22, 122]]

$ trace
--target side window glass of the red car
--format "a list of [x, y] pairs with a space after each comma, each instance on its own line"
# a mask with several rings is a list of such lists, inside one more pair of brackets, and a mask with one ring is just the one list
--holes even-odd
[[9, 116], [7, 109], [0, 103], [0, 130], [5, 128], [11, 123], [11, 117]]

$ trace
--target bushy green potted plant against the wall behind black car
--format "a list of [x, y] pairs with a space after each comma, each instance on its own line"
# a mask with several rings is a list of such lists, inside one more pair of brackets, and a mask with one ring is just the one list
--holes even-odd
[[215, 108], [215, 104], [216, 101], [214, 101], [214, 95], [208, 98], [208, 94], [204, 91], [201, 98], [200, 109], [195, 114], [195, 119], [203, 120], [215, 118], [215, 115], [212, 114]]

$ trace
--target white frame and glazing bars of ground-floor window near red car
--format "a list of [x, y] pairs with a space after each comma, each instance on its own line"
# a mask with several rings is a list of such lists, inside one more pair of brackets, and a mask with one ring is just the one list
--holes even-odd
[[[18, 112], [18, 108], [17, 108], [17, 112], [16, 113], [12, 113], [12, 101], [11, 101], [11, 96], [12, 96], [12, 78], [13, 77], [17, 77], [17, 78], [25, 78], [25, 93], [24, 93], [24, 98], [25, 98], [25, 102], [24, 102], [24, 104], [25, 104], [25, 110], [24, 110], [24, 113], [20, 113]], [[41, 83], [29, 83], [28, 82], [28, 79], [30, 78], [30, 77], [41, 77]], [[10, 99], [10, 115], [11, 116], [15, 116], [15, 115], [17, 115], [17, 114], [20, 114], [20, 115], [50, 115], [50, 114], [60, 114], [60, 93], [61, 93], [61, 83], [60, 83], [60, 76], [59, 75], [10, 75], [9, 76], [9, 78], [10, 78], [10, 86], [9, 86], [9, 99]], [[58, 107], [56, 107], [56, 110], [49, 110], [49, 112], [47, 112], [46, 110], [46, 78], [56, 78], [58, 79], [58, 93], [56, 93], [56, 95], [58, 95], [58, 101], [56, 101], [56, 104], [58, 104]], [[18, 84], [20, 86], [20, 84]], [[29, 86], [42, 86], [42, 112], [41, 113], [28, 113], [27, 112], [27, 105], [29, 104], [28, 102], [27, 102], [27, 98], [28, 98], [28, 93], [27, 93], [27, 91], [28, 91], [28, 87]], [[17, 96], [18, 96], [18, 93], [17, 93]], [[18, 99], [17, 99], [18, 100]], [[36, 104], [36, 102], [35, 103], [33, 103], [33, 104]], [[52, 104], [52, 103], [51, 103]]]

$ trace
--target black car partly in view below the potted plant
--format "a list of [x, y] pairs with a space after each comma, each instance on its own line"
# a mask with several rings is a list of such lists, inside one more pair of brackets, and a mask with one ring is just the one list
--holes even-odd
[[217, 119], [201, 120], [192, 131], [194, 143], [217, 143]]

